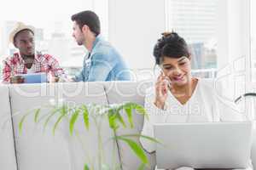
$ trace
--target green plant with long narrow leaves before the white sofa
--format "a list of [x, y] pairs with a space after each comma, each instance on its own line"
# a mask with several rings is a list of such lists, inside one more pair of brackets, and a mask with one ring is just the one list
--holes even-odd
[[[66, 119], [68, 122], [68, 129], [71, 136], [76, 134], [77, 137], [80, 134], [76, 131], [76, 123], [82, 120], [84, 123], [84, 127], [86, 130], [90, 129], [90, 125], [92, 123], [96, 126], [97, 133], [97, 165], [90, 161], [90, 158], [84, 162], [84, 170], [95, 170], [96, 167], [102, 170], [110, 170], [110, 165], [104, 162], [103, 156], [103, 148], [104, 143], [102, 142], [102, 133], [101, 133], [101, 120], [108, 121], [108, 128], [113, 132], [113, 136], [109, 137], [108, 142], [113, 141], [117, 144], [117, 142], [124, 142], [129, 146], [129, 148], [134, 152], [135, 156], [141, 161], [139, 170], [145, 169], [148, 165], [148, 158], [146, 156], [145, 151], [142, 146], [138, 144], [133, 138], [144, 138], [148, 139], [154, 143], [160, 143], [158, 140], [154, 138], [150, 138], [148, 136], [143, 136], [141, 134], [125, 134], [125, 135], [117, 135], [117, 130], [119, 127], [124, 128], [133, 128], [133, 112], [137, 111], [137, 113], [142, 114], [146, 118], [148, 118], [147, 113], [142, 105], [137, 105], [136, 103], [127, 102], [120, 105], [68, 105], [67, 102], [54, 103], [53, 105], [45, 105], [39, 108], [34, 108], [32, 111], [28, 111], [24, 116], [21, 117], [19, 122], [19, 132], [21, 133], [23, 124], [26, 121], [26, 117], [33, 115], [35, 123], [43, 122], [44, 129], [49, 126], [49, 121], [55, 117], [55, 123], [53, 124], [52, 133], [55, 134], [55, 130], [58, 125], [61, 123], [63, 119]], [[51, 107], [51, 111], [47, 115], [41, 115], [41, 111], [44, 107]], [[127, 121], [125, 122], [124, 115], [127, 116]], [[114, 169], [121, 169], [121, 165], [115, 165]], [[113, 165], [112, 168], [113, 170]]]

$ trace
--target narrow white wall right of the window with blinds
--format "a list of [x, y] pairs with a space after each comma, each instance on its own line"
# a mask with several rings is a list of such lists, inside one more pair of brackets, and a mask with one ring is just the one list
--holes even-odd
[[249, 0], [219, 0], [218, 69], [249, 55]]

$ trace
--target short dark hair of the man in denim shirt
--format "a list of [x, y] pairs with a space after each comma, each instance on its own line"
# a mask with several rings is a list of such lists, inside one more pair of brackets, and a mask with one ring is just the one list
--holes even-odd
[[78, 14], [73, 14], [71, 17], [72, 21], [76, 21], [79, 28], [82, 30], [83, 26], [89, 26], [90, 31], [93, 31], [96, 36], [101, 33], [101, 23], [97, 14], [90, 10], [82, 11]]

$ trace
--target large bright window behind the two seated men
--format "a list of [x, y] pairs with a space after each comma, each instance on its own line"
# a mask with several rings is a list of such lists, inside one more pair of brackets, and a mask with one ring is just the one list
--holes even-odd
[[[78, 46], [72, 37], [72, 14], [93, 10], [99, 15], [102, 34], [108, 39], [108, 0], [73, 1], [15, 1], [2, 4], [0, 11], [0, 59], [1, 61], [16, 49], [9, 44], [9, 32], [16, 21], [36, 27], [36, 48], [52, 54], [69, 74], [81, 67], [85, 48]], [[2, 72], [2, 71], [1, 71]]]

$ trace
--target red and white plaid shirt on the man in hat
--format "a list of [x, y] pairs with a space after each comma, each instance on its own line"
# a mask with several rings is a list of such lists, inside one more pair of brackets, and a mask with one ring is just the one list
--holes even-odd
[[[61, 77], [64, 75], [57, 59], [49, 54], [35, 54], [35, 59], [32, 66], [32, 72], [46, 72], [54, 77]], [[15, 53], [13, 56], [3, 60], [3, 82], [10, 82], [10, 77], [26, 74], [27, 69], [24, 59], [21, 58], [20, 53]]]

